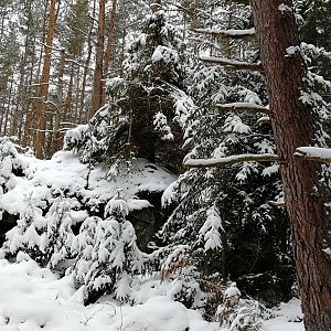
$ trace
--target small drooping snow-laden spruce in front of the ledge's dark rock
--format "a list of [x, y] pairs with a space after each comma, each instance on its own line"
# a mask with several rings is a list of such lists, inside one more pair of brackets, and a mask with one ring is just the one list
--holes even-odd
[[102, 295], [115, 293], [121, 301], [130, 299], [130, 284], [143, 273], [146, 256], [136, 244], [132, 224], [126, 221], [128, 205], [121, 199], [111, 199], [103, 220], [87, 217], [72, 245], [76, 263], [68, 270], [86, 303]]

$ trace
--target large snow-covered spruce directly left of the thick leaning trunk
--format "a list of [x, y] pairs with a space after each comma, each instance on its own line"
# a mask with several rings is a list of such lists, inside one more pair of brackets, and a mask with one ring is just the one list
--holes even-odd
[[[246, 61], [255, 52], [247, 55]], [[253, 79], [257, 84], [247, 88]], [[190, 94], [199, 108], [192, 108], [185, 125], [185, 160], [275, 153], [271, 128], [261, 124], [268, 121], [268, 108], [259, 74], [202, 66]], [[243, 105], [260, 111], [236, 111]], [[201, 279], [220, 273], [250, 295], [266, 289], [263, 299], [274, 303], [289, 296], [293, 281], [288, 217], [275, 207], [282, 201], [274, 162], [192, 168], [163, 195], [166, 204], [178, 205], [160, 236], [173, 247], [189, 245]]]

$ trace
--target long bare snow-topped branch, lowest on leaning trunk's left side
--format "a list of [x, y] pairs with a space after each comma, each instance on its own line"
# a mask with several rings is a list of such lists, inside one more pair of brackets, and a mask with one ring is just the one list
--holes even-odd
[[184, 162], [185, 168], [226, 167], [241, 162], [281, 162], [277, 154], [239, 154], [217, 159], [190, 159]]

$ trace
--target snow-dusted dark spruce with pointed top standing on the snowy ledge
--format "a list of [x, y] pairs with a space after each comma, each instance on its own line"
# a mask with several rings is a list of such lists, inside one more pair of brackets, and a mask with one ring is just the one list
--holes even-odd
[[[122, 76], [108, 82], [109, 104], [65, 136], [65, 148], [82, 151], [84, 162], [109, 164], [132, 154], [178, 170], [182, 160], [182, 41], [157, 10], [125, 54]], [[110, 171], [111, 172], [111, 171]]]

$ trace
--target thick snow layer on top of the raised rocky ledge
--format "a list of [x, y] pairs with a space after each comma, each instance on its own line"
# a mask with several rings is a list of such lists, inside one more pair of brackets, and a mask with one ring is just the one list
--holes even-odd
[[[1, 195], [0, 210], [10, 214], [23, 214], [26, 205], [23, 203], [26, 195], [35, 203], [49, 200], [56, 190], [76, 192], [84, 200], [98, 200], [106, 203], [117, 196], [120, 189], [121, 196], [128, 202], [129, 210], [139, 210], [149, 205], [147, 201], [137, 200], [139, 192], [163, 192], [174, 181], [166, 169], [151, 164], [143, 159], [137, 159], [136, 171], [130, 175], [117, 177], [116, 181], [105, 179], [104, 164], [83, 164], [72, 152], [60, 151], [51, 160], [38, 160], [33, 156], [20, 154], [26, 163], [28, 177], [17, 178], [17, 184]], [[28, 172], [25, 171], [25, 172]], [[41, 202], [40, 202], [41, 203]], [[77, 216], [82, 221], [84, 215]]]

